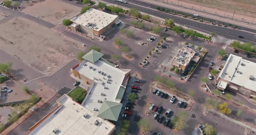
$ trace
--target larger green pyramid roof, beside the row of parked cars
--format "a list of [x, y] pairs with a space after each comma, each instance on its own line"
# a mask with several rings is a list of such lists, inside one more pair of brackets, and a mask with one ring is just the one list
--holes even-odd
[[97, 117], [117, 121], [123, 104], [104, 100]]

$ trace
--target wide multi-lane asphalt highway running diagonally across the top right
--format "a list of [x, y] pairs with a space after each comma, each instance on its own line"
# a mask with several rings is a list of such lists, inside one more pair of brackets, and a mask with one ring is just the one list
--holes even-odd
[[[226, 37], [228, 39], [236, 39], [236, 40], [240, 40], [240, 41], [243, 41], [243, 42], [254, 42], [254, 43], [256, 43], [256, 35], [255, 34], [252, 34], [252, 33], [249, 33], [249, 32], [244, 32], [244, 31], [238, 30], [238, 29], [230, 29], [230, 28], [225, 28], [225, 27], [207, 25], [205, 23], [199, 23], [199, 22], [191, 21], [189, 19], [184, 19], [184, 18], [181, 18], [181, 17], [173, 16], [173, 15], [168, 14], [168, 13], [163, 13], [161, 11], [152, 10], [151, 7], [154, 7], [154, 5], [152, 5], [150, 8], [148, 8], [148, 5], [146, 5], [148, 3], [142, 4], [142, 5], [144, 5], [144, 7], [142, 7], [142, 6], [135, 5], [133, 3], [125, 4], [125, 3], [117, 2], [115, 0], [102, 0], [102, 1], [105, 1], [105, 2], [108, 2], [108, 3], [113, 3], [113, 4], [118, 4], [120, 6], [124, 6], [124, 7], [127, 7], [127, 8], [136, 8], [137, 10], [139, 10], [141, 12], [149, 13], [153, 16], [158, 16], [158, 17], [163, 18], [163, 19], [171, 18], [177, 24], [189, 26], [190, 28], [201, 31], [201, 32], [206, 32], [206, 33], [215, 32], [217, 35]], [[256, 30], [253, 30], [253, 32], [256, 33]], [[238, 35], [243, 35], [245, 39], [238, 38]]]

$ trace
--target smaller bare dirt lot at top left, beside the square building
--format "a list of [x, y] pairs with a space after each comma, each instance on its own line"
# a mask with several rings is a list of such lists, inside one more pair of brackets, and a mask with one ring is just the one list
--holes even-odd
[[[41, 2], [39, 2], [41, 1]], [[80, 8], [63, 3], [59, 0], [38, 0], [30, 2], [23, 8], [23, 12], [37, 16], [55, 25], [80, 12]]]

